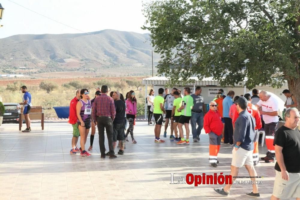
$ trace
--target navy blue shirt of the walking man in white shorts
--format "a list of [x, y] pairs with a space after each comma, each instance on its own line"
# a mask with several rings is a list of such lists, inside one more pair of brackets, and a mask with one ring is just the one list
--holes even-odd
[[233, 133], [234, 144], [241, 142], [240, 148], [252, 151], [254, 149], [255, 126], [256, 123], [253, 116], [247, 110], [241, 111], [235, 121]]

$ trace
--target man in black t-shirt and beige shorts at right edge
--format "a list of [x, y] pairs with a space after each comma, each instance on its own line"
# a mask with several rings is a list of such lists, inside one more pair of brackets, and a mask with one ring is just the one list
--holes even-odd
[[275, 133], [275, 181], [271, 199], [300, 198], [300, 131], [299, 111], [290, 108], [286, 123]]

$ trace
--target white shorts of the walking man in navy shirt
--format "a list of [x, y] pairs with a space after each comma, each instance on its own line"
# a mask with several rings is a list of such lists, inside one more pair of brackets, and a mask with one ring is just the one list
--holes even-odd
[[233, 147], [232, 150], [232, 162], [231, 165], [235, 167], [242, 167], [244, 165], [253, 165], [253, 150], [247, 151], [242, 147], [235, 150]]

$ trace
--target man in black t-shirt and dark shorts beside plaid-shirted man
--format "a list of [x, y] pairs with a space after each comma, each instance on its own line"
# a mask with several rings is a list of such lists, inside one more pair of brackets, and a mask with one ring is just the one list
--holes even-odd
[[125, 103], [120, 99], [120, 92], [113, 93], [113, 100], [115, 102], [116, 117], [113, 120], [113, 149], [115, 150], [117, 140], [119, 140], [120, 150], [119, 155], [124, 154], [125, 138], [124, 138], [124, 116], [125, 116]]

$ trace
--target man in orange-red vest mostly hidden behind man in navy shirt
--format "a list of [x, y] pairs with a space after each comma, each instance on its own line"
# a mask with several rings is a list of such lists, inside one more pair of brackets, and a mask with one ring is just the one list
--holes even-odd
[[[259, 164], [258, 160], [258, 138], [259, 138], [259, 134], [258, 134], [258, 130], [262, 128], [262, 121], [260, 119], [260, 114], [259, 111], [257, 109], [257, 107], [255, 105], [253, 105], [251, 103], [251, 95], [250, 94], [245, 94], [244, 97], [247, 99], [248, 101], [248, 107], [247, 107], [247, 111], [253, 116], [253, 118], [255, 119], [255, 137], [253, 140], [254, 143], [254, 149], [253, 149], [253, 165], [256, 166]], [[238, 111], [235, 112], [235, 120], [238, 118]], [[235, 121], [232, 121], [233, 125], [235, 123]]]

